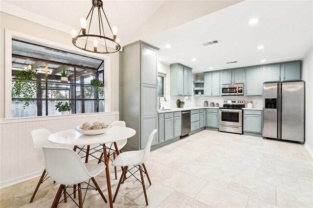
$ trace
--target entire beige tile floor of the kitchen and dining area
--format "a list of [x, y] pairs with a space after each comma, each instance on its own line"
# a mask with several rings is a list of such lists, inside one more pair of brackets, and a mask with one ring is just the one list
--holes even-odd
[[[152, 181], [146, 183], [149, 207], [313, 207], [313, 159], [300, 144], [203, 130], [152, 151], [146, 166]], [[114, 193], [118, 180], [111, 170]], [[96, 180], [107, 196], [104, 178], [101, 173]], [[0, 189], [0, 207], [51, 206], [58, 188], [52, 180], [28, 203], [37, 180]], [[87, 193], [84, 206], [109, 207], [96, 191]], [[75, 206], [68, 201], [59, 207]], [[145, 207], [141, 184], [128, 179], [114, 207]]]

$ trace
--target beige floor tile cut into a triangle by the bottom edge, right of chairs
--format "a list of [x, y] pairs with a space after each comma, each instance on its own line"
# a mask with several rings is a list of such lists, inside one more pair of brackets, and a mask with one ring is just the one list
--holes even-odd
[[157, 208], [209, 208], [207, 205], [174, 191]]

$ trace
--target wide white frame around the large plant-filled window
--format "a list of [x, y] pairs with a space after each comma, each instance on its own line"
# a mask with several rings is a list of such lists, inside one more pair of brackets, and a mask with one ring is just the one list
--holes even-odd
[[[18, 118], [12, 118], [11, 116], [11, 81], [12, 81], [12, 40], [20, 40], [23, 42], [29, 42], [32, 44], [39, 44], [59, 50], [65, 50], [70, 53], [75, 53], [82, 56], [88, 56], [95, 59], [100, 59], [104, 62], [104, 83], [105, 83], [105, 109], [104, 113], [111, 112], [111, 57], [106, 55], [100, 55], [100, 54], [90, 54], [88, 52], [85, 52], [83, 50], [80, 50], [74, 46], [68, 46], [57, 42], [52, 42], [44, 39], [40, 39], [37, 37], [33, 37], [30, 35], [26, 35], [20, 32], [12, 31], [9, 29], [4, 29], [4, 119], [30, 119], [30, 118], [36, 118], [42, 120], [47, 117], [54, 117], [54, 116], [69, 116], [73, 117], [78, 114], [70, 114], [70, 115], [49, 115], [49, 116], [34, 116], [34, 117], [18, 117]], [[3, 103], [0, 103], [0, 105]], [[1, 106], [0, 106], [1, 107]], [[97, 114], [101, 112], [96, 112]], [[84, 113], [84, 114], [95, 114], [95, 113]]]

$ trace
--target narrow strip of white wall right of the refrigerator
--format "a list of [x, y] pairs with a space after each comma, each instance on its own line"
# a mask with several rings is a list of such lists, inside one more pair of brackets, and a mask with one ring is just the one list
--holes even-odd
[[302, 60], [302, 79], [305, 81], [305, 146], [313, 157], [313, 47]]

